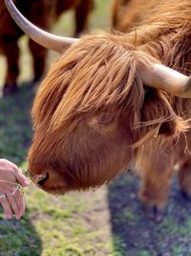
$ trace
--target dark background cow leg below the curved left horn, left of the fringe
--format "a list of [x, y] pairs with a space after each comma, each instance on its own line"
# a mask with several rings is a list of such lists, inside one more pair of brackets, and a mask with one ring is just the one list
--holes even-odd
[[30, 50], [32, 52], [33, 59], [33, 81], [39, 81], [44, 73], [46, 65], [47, 50], [36, 44], [32, 39], [29, 42]]

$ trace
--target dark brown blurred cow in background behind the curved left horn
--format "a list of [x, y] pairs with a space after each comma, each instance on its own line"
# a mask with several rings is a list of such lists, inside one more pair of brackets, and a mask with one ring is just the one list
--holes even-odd
[[[74, 9], [75, 36], [87, 30], [88, 15], [93, 9], [93, 0], [15, 0], [14, 2], [27, 18], [47, 31], [51, 30], [53, 22], [62, 12]], [[17, 89], [16, 80], [19, 75], [17, 41], [23, 32], [11, 19], [4, 0], [0, 0], [0, 18], [0, 49], [8, 62], [4, 94], [10, 94]], [[47, 51], [32, 40], [30, 40], [29, 46], [33, 57], [33, 80], [38, 81], [43, 75]]]

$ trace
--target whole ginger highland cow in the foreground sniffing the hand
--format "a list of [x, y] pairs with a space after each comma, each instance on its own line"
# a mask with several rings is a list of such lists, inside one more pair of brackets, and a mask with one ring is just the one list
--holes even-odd
[[33, 103], [32, 180], [55, 194], [87, 190], [134, 161], [140, 198], [159, 221], [179, 164], [180, 186], [190, 198], [190, 0], [156, 1], [145, 18], [140, 13], [136, 31], [79, 40], [44, 33], [6, 2], [33, 40], [58, 52], [68, 48]]

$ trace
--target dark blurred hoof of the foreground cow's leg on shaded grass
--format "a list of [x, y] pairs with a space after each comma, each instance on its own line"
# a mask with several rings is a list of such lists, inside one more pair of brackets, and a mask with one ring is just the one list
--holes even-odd
[[159, 209], [156, 205], [148, 206], [143, 205], [143, 210], [147, 217], [153, 221], [160, 222], [163, 220], [165, 209]]

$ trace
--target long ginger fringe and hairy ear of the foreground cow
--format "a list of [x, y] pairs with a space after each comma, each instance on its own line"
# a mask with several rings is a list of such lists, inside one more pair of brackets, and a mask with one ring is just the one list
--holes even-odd
[[164, 123], [171, 122], [171, 133], [179, 136], [189, 126], [173, 110], [169, 96], [153, 89], [145, 97], [138, 70], [150, 60], [154, 61], [151, 55], [128, 43], [124, 35], [84, 36], [53, 64], [41, 84], [32, 108], [34, 128], [70, 132], [80, 121], [110, 113], [122, 116], [124, 126], [132, 129], [135, 148]]

